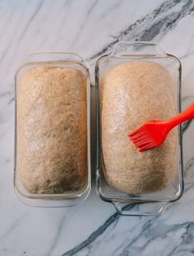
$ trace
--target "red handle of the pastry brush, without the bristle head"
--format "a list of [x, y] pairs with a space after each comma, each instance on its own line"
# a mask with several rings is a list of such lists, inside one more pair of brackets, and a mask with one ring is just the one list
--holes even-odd
[[186, 110], [182, 111], [176, 116], [173, 116], [173, 118], [168, 119], [168, 129], [171, 130], [174, 126], [180, 125], [183, 121], [187, 121], [192, 118], [194, 118], [194, 103], [187, 107]]

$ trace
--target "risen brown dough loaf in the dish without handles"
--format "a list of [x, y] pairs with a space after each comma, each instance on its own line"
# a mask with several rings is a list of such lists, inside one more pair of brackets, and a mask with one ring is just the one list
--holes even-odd
[[87, 185], [86, 78], [78, 69], [28, 70], [17, 87], [17, 169], [29, 192]]

